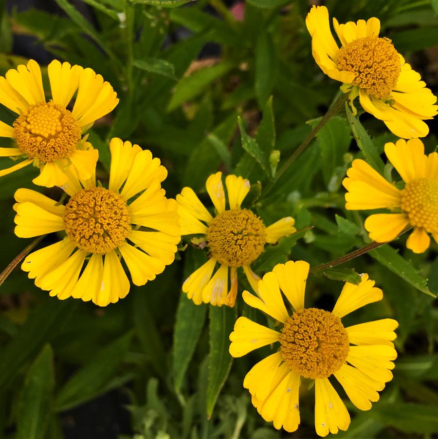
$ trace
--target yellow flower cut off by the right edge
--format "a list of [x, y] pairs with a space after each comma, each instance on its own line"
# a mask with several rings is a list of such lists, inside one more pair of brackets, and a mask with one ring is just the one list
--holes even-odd
[[365, 221], [369, 237], [377, 242], [394, 239], [413, 226], [406, 247], [415, 253], [429, 248], [432, 233], [438, 242], [438, 153], [424, 154], [420, 139], [386, 143], [385, 154], [405, 182], [403, 190], [386, 181], [364, 160], [354, 160], [343, 185], [348, 210], [389, 209]]

